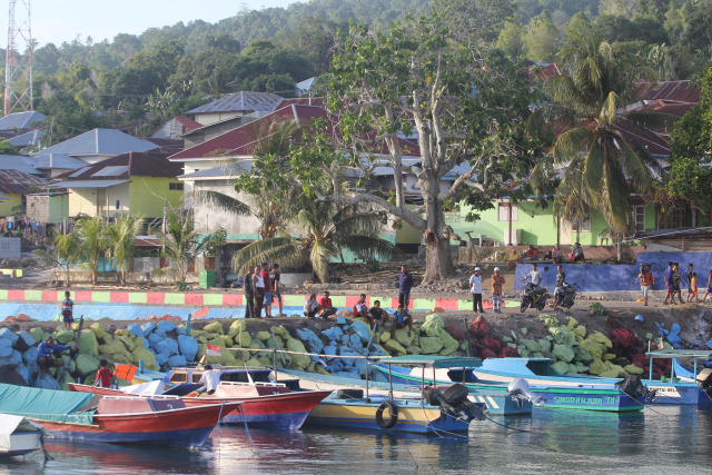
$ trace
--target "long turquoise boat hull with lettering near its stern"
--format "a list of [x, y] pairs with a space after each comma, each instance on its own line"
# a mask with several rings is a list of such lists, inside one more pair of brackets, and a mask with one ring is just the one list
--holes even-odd
[[[388, 369], [378, 365], [375, 366], [386, 377]], [[419, 377], [413, 376], [407, 368], [390, 367], [390, 377], [394, 384], [415, 384], [421, 382]], [[425, 378], [426, 384], [433, 384], [432, 378]], [[437, 380], [437, 385], [453, 384], [449, 380]], [[491, 385], [485, 383], [465, 383], [473, 396], [485, 394], [506, 394], [506, 386]], [[611, 388], [583, 388], [583, 387], [554, 387], [554, 386], [530, 386], [535, 396], [544, 397], [544, 407], [547, 409], [586, 409], [605, 410], [614, 413], [642, 410], [643, 399], [633, 399], [620, 390]]]

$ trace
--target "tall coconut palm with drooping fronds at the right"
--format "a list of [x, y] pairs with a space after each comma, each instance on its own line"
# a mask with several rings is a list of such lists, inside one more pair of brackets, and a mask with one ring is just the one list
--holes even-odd
[[570, 222], [580, 220], [586, 208], [599, 210], [611, 234], [623, 237], [632, 229], [631, 191], [652, 189], [651, 170], [657, 164], [623, 127], [670, 120], [663, 115], [622, 111], [637, 100], [635, 82], [654, 77], [623, 47], [601, 38], [578, 38], [563, 52], [568, 75], [546, 81], [553, 99], [553, 120], [563, 128], [554, 147], [533, 170], [535, 191], [542, 192], [553, 168], [563, 169], [554, 198], [554, 216]]

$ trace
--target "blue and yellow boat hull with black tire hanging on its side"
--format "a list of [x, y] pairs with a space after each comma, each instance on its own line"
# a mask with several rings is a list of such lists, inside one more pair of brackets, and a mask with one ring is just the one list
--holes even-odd
[[368, 429], [386, 433], [435, 434], [438, 431], [463, 432], [469, 423], [455, 419], [441, 412], [439, 407], [422, 405], [421, 399], [394, 399], [398, 407], [398, 418], [390, 428], [382, 428], [376, 423], [378, 406], [388, 400], [387, 397], [373, 397], [370, 403], [360, 399], [326, 398], [312, 410], [307, 425], [342, 427], [346, 429]]

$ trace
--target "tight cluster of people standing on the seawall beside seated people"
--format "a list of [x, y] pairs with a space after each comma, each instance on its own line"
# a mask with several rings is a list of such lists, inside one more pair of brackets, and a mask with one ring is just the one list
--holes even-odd
[[245, 318], [263, 318], [263, 308], [265, 317], [271, 318], [271, 306], [277, 301], [279, 314], [278, 317], [285, 317], [283, 314], [284, 300], [281, 298], [279, 264], [273, 264], [271, 274], [269, 265], [263, 263], [260, 266], [250, 266], [243, 279], [245, 288]]

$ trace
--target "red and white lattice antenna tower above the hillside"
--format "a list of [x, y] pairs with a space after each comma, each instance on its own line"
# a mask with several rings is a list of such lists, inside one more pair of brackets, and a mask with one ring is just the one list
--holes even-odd
[[[17, 4], [20, 6], [17, 12], [22, 21], [16, 22]], [[4, 57], [4, 116], [32, 110], [32, 48], [30, 0], [10, 0]]]

